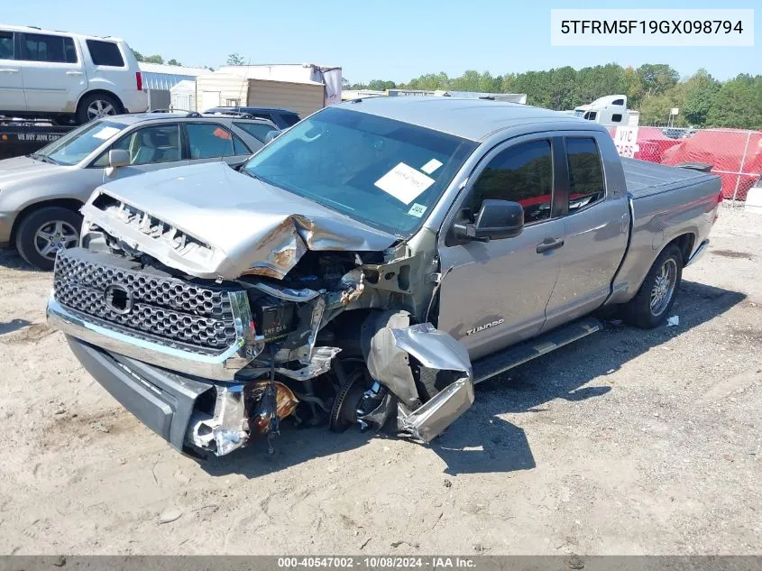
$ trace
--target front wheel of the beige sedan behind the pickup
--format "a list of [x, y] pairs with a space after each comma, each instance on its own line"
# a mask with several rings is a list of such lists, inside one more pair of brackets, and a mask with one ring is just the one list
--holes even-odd
[[60, 249], [76, 246], [82, 216], [69, 208], [42, 207], [23, 217], [16, 232], [16, 250], [36, 268], [50, 271]]

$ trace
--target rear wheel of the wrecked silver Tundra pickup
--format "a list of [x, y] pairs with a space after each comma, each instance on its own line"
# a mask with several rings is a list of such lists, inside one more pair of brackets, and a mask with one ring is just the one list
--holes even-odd
[[683, 253], [669, 244], [648, 270], [638, 293], [624, 305], [622, 318], [641, 329], [653, 329], [666, 321], [675, 305], [683, 280]]

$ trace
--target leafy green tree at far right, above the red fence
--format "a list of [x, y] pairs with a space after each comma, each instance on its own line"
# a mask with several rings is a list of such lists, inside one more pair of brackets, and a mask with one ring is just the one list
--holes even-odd
[[725, 82], [714, 97], [706, 124], [762, 129], [762, 76], [742, 73]]

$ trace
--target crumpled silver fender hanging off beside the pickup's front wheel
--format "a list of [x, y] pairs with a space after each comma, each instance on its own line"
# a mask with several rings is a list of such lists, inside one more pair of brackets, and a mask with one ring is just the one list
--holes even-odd
[[[399, 400], [397, 428], [430, 442], [473, 404], [473, 373], [468, 352], [430, 323], [409, 325], [409, 313], [385, 311], [363, 324], [361, 346], [368, 371]], [[410, 356], [428, 369], [461, 373], [421, 404]]]

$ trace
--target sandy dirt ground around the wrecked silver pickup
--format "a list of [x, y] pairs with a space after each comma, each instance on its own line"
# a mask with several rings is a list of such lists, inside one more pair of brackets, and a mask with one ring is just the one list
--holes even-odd
[[199, 464], [78, 365], [49, 291], [0, 253], [1, 553], [762, 553], [762, 216], [723, 208], [679, 326], [609, 321], [429, 447], [292, 429]]

